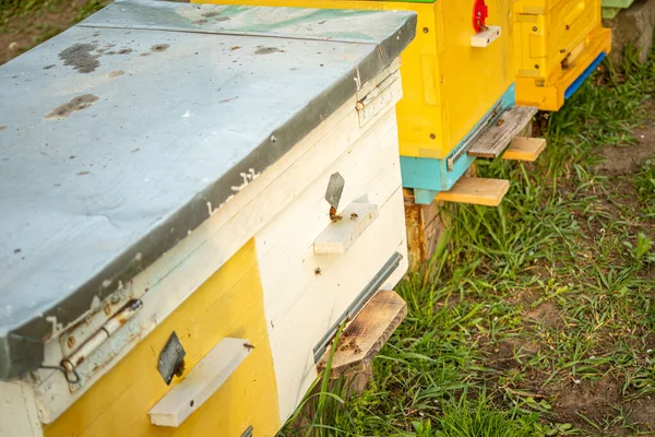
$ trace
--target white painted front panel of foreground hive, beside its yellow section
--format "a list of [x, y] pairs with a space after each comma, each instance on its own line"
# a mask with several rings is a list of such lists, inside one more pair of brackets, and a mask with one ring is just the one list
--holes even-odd
[[[257, 235], [282, 421], [317, 375], [312, 350], [321, 336], [394, 251], [406, 258], [395, 119], [389, 114], [374, 127]], [[342, 202], [366, 199], [380, 213], [347, 253], [314, 255], [317, 233], [331, 223], [323, 194], [334, 172], [345, 179]], [[384, 286], [393, 287], [406, 268], [403, 259]]]

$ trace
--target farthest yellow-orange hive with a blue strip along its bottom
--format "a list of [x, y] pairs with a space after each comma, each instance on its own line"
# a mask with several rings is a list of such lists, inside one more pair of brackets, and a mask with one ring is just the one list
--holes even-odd
[[516, 103], [558, 110], [611, 49], [600, 0], [516, 0]]

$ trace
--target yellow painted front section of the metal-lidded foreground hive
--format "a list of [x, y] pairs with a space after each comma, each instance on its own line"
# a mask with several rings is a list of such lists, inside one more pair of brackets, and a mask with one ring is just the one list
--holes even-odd
[[[179, 428], [151, 425], [147, 414], [181, 380], [175, 378], [168, 387], [157, 371], [159, 352], [172, 331], [187, 351], [186, 371], [226, 336], [248, 339], [255, 346], [223, 387]], [[254, 436], [274, 436], [281, 426], [253, 240], [47, 426], [45, 437], [238, 437], [250, 425]]]

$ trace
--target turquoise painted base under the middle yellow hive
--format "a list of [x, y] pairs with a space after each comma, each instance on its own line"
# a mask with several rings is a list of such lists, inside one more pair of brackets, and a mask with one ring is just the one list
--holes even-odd
[[[491, 106], [489, 111], [480, 118], [480, 121], [471, 130], [475, 132], [487, 116], [497, 107], [500, 113], [516, 103], [516, 92], [514, 84], [503, 93], [503, 95]], [[419, 204], [429, 204], [432, 202], [439, 191], [450, 190], [457, 180], [466, 173], [475, 162], [475, 157], [468, 156], [466, 152], [454, 162], [453, 169], [449, 170], [446, 161], [455, 156], [461, 149], [468, 145], [471, 139], [462, 140], [446, 156], [445, 160], [434, 160], [427, 157], [401, 156], [401, 173], [403, 175], [403, 187], [414, 189], [414, 201]]]

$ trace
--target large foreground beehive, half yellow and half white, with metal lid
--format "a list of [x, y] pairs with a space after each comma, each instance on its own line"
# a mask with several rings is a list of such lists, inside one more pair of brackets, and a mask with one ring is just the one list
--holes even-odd
[[415, 14], [195, 14], [117, 0], [0, 67], [2, 436], [272, 436], [406, 271]]

